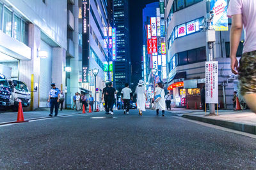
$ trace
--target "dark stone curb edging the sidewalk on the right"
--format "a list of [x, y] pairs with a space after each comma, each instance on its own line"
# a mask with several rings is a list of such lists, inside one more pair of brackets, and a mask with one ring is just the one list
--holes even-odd
[[230, 122], [225, 120], [216, 120], [212, 118], [205, 118], [205, 117], [195, 117], [191, 115], [182, 115], [184, 118], [189, 118], [191, 120], [197, 120], [200, 122], [204, 122], [207, 124], [218, 125], [221, 127], [226, 127], [228, 129], [234, 129], [236, 131], [246, 132], [250, 134], [256, 134], [256, 126], [255, 125], [247, 125], [247, 124], [240, 124], [236, 122]]

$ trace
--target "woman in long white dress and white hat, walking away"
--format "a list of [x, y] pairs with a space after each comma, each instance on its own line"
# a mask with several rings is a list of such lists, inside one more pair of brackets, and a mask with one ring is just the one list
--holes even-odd
[[139, 110], [139, 115], [142, 115], [142, 111], [146, 111], [146, 92], [145, 92], [145, 86], [144, 86], [144, 81], [140, 80], [135, 93], [137, 95], [137, 108]]

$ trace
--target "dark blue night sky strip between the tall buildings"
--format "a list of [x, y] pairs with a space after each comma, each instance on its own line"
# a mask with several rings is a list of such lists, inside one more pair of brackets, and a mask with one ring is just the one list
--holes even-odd
[[142, 10], [146, 4], [159, 0], [129, 0], [130, 2], [130, 48], [132, 64], [132, 82], [134, 85], [141, 79], [141, 57], [143, 42]]

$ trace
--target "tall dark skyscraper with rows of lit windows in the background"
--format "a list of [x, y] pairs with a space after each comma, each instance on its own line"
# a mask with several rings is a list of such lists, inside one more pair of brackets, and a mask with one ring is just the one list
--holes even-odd
[[129, 1], [113, 0], [113, 27], [116, 27], [116, 61], [114, 83], [118, 91], [124, 83], [131, 83], [131, 56], [129, 49]]

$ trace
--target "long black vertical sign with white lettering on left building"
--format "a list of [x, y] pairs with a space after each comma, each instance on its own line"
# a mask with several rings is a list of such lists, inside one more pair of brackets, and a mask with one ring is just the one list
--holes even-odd
[[83, 0], [82, 19], [83, 19], [83, 52], [82, 52], [82, 81], [88, 83], [88, 67], [90, 59], [90, 0]]

